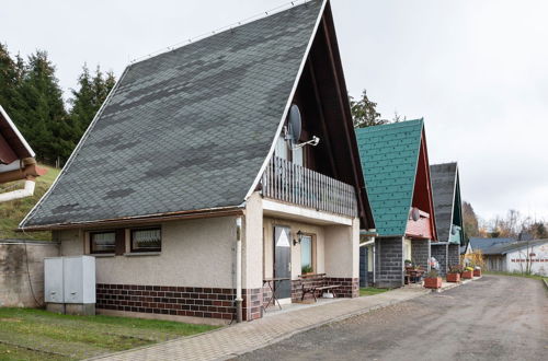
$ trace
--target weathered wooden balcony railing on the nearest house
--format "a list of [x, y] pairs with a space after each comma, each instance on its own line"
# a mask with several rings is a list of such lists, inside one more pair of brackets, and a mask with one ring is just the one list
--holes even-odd
[[262, 177], [262, 193], [289, 203], [349, 217], [357, 216], [354, 187], [273, 156]]

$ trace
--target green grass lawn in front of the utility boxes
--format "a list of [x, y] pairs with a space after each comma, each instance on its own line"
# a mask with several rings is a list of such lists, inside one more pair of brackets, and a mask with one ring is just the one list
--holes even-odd
[[0, 308], [0, 360], [80, 360], [214, 328], [217, 326]]

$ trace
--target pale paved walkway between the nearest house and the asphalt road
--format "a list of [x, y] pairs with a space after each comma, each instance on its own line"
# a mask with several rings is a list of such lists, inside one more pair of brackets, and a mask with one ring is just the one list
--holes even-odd
[[219, 360], [230, 359], [323, 324], [430, 293], [422, 288], [341, 300], [279, 313], [215, 331], [110, 354], [101, 360]]

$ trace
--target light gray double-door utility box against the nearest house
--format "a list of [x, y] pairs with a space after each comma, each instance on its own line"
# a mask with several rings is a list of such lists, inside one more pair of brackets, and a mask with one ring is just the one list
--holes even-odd
[[48, 311], [95, 314], [95, 257], [44, 259], [44, 299]]

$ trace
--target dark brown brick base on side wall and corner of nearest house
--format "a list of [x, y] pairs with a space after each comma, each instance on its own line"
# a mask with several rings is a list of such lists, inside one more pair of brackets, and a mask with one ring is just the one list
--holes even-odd
[[[96, 284], [96, 308], [232, 319], [235, 289], [138, 284]], [[262, 289], [242, 290], [242, 317], [262, 317]]]

